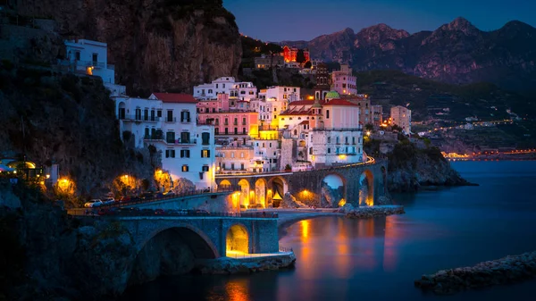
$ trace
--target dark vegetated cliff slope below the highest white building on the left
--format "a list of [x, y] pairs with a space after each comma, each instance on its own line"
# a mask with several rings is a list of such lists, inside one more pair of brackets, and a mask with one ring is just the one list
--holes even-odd
[[[79, 196], [101, 196], [121, 174], [152, 179], [150, 155], [123, 146], [113, 100], [93, 77], [0, 65], [0, 156], [58, 163]], [[154, 162], [153, 162], [154, 163]]]

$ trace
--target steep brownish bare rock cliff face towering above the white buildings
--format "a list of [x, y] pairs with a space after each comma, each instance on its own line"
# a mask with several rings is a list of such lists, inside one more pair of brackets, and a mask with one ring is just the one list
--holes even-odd
[[107, 43], [116, 82], [131, 94], [191, 92], [238, 74], [239, 29], [221, 0], [18, 0], [17, 11], [53, 18], [64, 38]]

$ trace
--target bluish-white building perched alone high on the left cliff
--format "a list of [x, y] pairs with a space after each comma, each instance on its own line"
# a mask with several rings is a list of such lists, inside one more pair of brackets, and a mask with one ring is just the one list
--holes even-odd
[[108, 63], [106, 43], [88, 39], [65, 40], [66, 63], [71, 71], [103, 79], [112, 96], [125, 95], [125, 87], [115, 84], [115, 67]]

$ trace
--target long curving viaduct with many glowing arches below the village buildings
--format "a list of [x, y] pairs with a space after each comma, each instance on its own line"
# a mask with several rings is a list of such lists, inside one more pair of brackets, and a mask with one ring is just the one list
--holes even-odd
[[387, 167], [387, 160], [369, 157], [366, 163], [312, 171], [218, 174], [216, 182], [236, 187], [233, 202], [242, 208], [278, 206], [286, 193], [306, 205], [374, 205], [387, 195]]

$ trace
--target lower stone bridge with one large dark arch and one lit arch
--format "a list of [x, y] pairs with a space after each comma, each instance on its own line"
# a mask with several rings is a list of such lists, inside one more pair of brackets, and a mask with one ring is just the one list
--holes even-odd
[[218, 258], [227, 255], [227, 250], [279, 252], [277, 218], [267, 216], [121, 216], [113, 221], [129, 230], [138, 253], [143, 254], [144, 249], [155, 253], [158, 242], [179, 242], [195, 258]]

